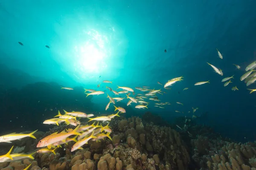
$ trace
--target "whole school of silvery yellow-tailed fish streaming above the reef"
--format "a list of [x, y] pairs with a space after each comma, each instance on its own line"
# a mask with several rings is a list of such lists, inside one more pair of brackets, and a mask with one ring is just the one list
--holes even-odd
[[[217, 49], [217, 52], [218, 52], [218, 57], [220, 59], [223, 59], [223, 56], [218, 51], [218, 49]], [[208, 62], [207, 62], [207, 64], [210, 65], [212, 67], [212, 69], [217, 74], [223, 76], [223, 72], [220, 68], [217, 68]], [[236, 64], [233, 64], [233, 65], [235, 65], [237, 69], [239, 69], [239, 70], [241, 69], [241, 67], [239, 65], [236, 65]], [[240, 80], [244, 81], [247, 86], [253, 84], [256, 81], [256, 70], [254, 70], [254, 68], [256, 68], [256, 61], [252, 62], [250, 65], [248, 65], [245, 68], [245, 71], [247, 71], [247, 72], [245, 74], [243, 74], [240, 78]], [[224, 86], [227, 86], [230, 83], [232, 83], [231, 79], [233, 79], [233, 78], [234, 78], [234, 75], [231, 77], [226, 77], [226, 78], [222, 79], [221, 82], [225, 82]], [[169, 88], [169, 86], [172, 86], [176, 82], [180, 82], [182, 80], [183, 80], [182, 76], [170, 79], [163, 85], [163, 88], [166, 90], [169, 90], [169, 89], [171, 89], [171, 88]], [[112, 84], [112, 82], [108, 81], [108, 80], [104, 80], [103, 83], [111, 83]], [[210, 83], [209, 80], [202, 81], [202, 82], [196, 82], [195, 85], [203, 85], [206, 83]], [[98, 88], [100, 87], [100, 84], [97, 85]], [[157, 82], [157, 84], [162, 85], [162, 83], [160, 83], [160, 82]], [[134, 89], [129, 88], [129, 87], [117, 86], [117, 89], [122, 89], [122, 91], [115, 91], [111, 87], [108, 87], [108, 86], [106, 86], [106, 88], [108, 88], [110, 93], [113, 93], [114, 95], [125, 94], [126, 99], [128, 99], [127, 106], [132, 105], [132, 103], [135, 103], [134, 108], [138, 108], [138, 109], [148, 108], [147, 106], [149, 104], [149, 100], [154, 101], [154, 107], [158, 107], [158, 108], [164, 108], [164, 105], [171, 105], [169, 102], [160, 102], [160, 99], [158, 99], [157, 94], [163, 95], [164, 93], [166, 93], [164, 91], [161, 91], [161, 88], [159, 90], [155, 90], [155, 89], [150, 89], [150, 87], [148, 87], [148, 86], [136, 87], [135, 89], [142, 92], [142, 93], [137, 93], [136, 96], [135, 96]], [[61, 89], [73, 90], [73, 88], [69, 88], [69, 87], [61, 87]], [[183, 91], [188, 90], [188, 89], [189, 88], [184, 88]], [[85, 88], [84, 88], [84, 90], [85, 90], [84, 93], [87, 96], [105, 94], [104, 91], [96, 91], [93, 89], [85, 89]], [[238, 90], [238, 88], [236, 86], [234, 86], [231, 88], [231, 90], [236, 91], [236, 90]], [[248, 90], [250, 90], [250, 93], [256, 91], [256, 89], [248, 89]], [[90, 93], [88, 93], [88, 92], [90, 92]], [[75, 128], [63, 130], [60, 133], [58, 133], [58, 132], [52, 133], [51, 135], [45, 137], [44, 139], [41, 139], [37, 144], [37, 147], [40, 149], [37, 150], [36, 152], [37, 153], [51, 153], [52, 152], [55, 154], [55, 150], [58, 147], [61, 147], [62, 144], [67, 144], [68, 142], [74, 141], [75, 144], [72, 146], [72, 149], [71, 149], [71, 152], [73, 152], [77, 149], [82, 149], [83, 145], [88, 144], [89, 140], [98, 142], [101, 139], [104, 139], [106, 137], [111, 139], [111, 136], [110, 136], [111, 127], [109, 127], [108, 125], [109, 125], [111, 119], [114, 119], [115, 116], [119, 116], [119, 113], [126, 112], [124, 108], [116, 106], [117, 102], [122, 101], [123, 99], [125, 99], [125, 97], [120, 97], [120, 96], [111, 97], [107, 93], [107, 98], [109, 99], [109, 102], [107, 103], [105, 110], [108, 110], [108, 108], [110, 107], [110, 105], [112, 103], [112, 105], [115, 108], [114, 111], [117, 111], [117, 113], [114, 113], [114, 114], [111, 114], [108, 116], [97, 116], [97, 117], [93, 118], [93, 116], [94, 116], [93, 114], [86, 114], [86, 113], [83, 113], [80, 111], [67, 112], [67, 111], [63, 110], [64, 114], [61, 114], [61, 112], [58, 111], [58, 114], [54, 118], [45, 120], [43, 123], [59, 125], [62, 122], [64, 122], [67, 125], [75, 126]], [[183, 103], [181, 103], [181, 102], [176, 102], [176, 103], [178, 105], [183, 105]], [[194, 113], [197, 109], [198, 108], [192, 108], [192, 111], [193, 111], [192, 118], [196, 117], [194, 115]], [[180, 111], [175, 111], [175, 112], [181, 113]], [[190, 111], [188, 113], [190, 113]], [[56, 118], [56, 117], [58, 117], [58, 118]], [[81, 122], [80, 122], [81, 119], [89, 119], [88, 122], [91, 122], [91, 121], [94, 121], [94, 122], [91, 125], [89, 123], [87, 123], [87, 125], [81, 125]], [[187, 119], [186, 119], [186, 121], [187, 121]], [[190, 121], [190, 119], [189, 119], [189, 121]], [[106, 126], [102, 126], [101, 123], [103, 123], [103, 122], [108, 122], [108, 124]], [[178, 125], [176, 125], [176, 126], [180, 129], [182, 129]], [[31, 137], [31, 138], [35, 139], [35, 136], [33, 134], [36, 131], [37, 130], [35, 130], [29, 134], [10, 133], [7, 135], [3, 135], [3, 136], [0, 136], [0, 142], [11, 143], [14, 140], [19, 140], [19, 139], [22, 139], [25, 137]], [[190, 133], [189, 133], [189, 135], [192, 136]], [[74, 137], [71, 138], [70, 136], [74, 136]], [[8, 153], [6, 153], [3, 156], [0, 156], [0, 162], [19, 160], [19, 159], [23, 159], [23, 158], [34, 159], [34, 157], [32, 156], [34, 153], [31, 153], [31, 154], [12, 153], [12, 149], [13, 149], [13, 147], [9, 150]], [[30, 165], [28, 167], [26, 167], [25, 170], [28, 169], [30, 167]]]

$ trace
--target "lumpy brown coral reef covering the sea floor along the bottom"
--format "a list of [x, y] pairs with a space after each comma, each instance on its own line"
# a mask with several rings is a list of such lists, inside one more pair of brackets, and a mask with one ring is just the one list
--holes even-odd
[[[35, 153], [35, 160], [0, 163], [0, 170], [23, 170], [29, 164], [32, 164], [29, 170], [256, 170], [256, 142], [230, 142], [212, 129], [184, 118], [176, 123], [183, 128], [175, 130], [176, 126], [157, 126], [153, 122], [143, 124], [139, 117], [121, 116], [110, 122], [112, 141], [90, 140], [84, 149], [75, 152], [70, 151], [75, 143], [71, 141], [57, 148], [56, 154]], [[16, 151], [26, 150], [29, 144], [27, 150], [35, 152], [41, 138], [70, 127], [55, 126], [47, 133], [39, 132], [36, 140], [18, 141]], [[198, 135], [187, 130], [195, 130]]]

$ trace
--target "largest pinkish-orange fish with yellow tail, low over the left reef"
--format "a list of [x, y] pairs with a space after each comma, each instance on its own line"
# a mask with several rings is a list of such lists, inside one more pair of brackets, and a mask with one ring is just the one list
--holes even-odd
[[80, 133], [77, 132], [79, 130], [80, 125], [78, 125], [73, 131], [68, 132], [68, 133], [53, 133], [49, 136], [46, 136], [44, 139], [41, 139], [36, 147], [51, 147], [51, 144], [59, 141], [65, 142], [67, 137], [71, 135], [81, 135]]

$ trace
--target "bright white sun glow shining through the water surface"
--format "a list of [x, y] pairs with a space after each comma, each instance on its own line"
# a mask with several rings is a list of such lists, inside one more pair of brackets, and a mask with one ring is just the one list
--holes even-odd
[[84, 31], [84, 34], [85, 42], [75, 46], [76, 72], [79, 71], [82, 78], [94, 77], [107, 68], [105, 61], [110, 52], [105, 46], [108, 38], [96, 30]]

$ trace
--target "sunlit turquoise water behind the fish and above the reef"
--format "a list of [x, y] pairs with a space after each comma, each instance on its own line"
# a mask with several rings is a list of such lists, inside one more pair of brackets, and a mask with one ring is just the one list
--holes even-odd
[[[159, 96], [172, 105], [164, 109], [149, 105], [134, 114], [151, 111], [172, 122], [175, 116], [192, 116], [187, 112], [198, 107], [198, 122], [236, 140], [254, 140], [256, 94], [249, 94], [240, 77], [256, 60], [255, 5], [253, 0], [2, 0], [1, 85], [9, 89], [54, 81], [64, 87], [95, 89], [110, 80], [113, 89], [116, 85], [163, 89], [157, 82], [183, 76]], [[221, 68], [224, 76], [206, 62]], [[8, 76], [9, 72], [13, 74]], [[221, 79], [232, 75], [233, 83], [224, 87]], [[208, 80], [210, 84], [194, 86]], [[235, 85], [239, 91], [231, 91]], [[186, 87], [189, 90], [183, 91]], [[94, 96], [93, 102], [104, 111], [108, 99]]]

